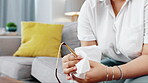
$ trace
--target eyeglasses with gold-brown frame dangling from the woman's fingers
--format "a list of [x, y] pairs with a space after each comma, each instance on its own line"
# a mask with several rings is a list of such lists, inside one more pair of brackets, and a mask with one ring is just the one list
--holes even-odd
[[78, 57], [78, 55], [64, 42], [62, 42], [59, 46], [59, 51], [58, 51], [58, 57], [57, 57], [57, 61], [56, 61], [56, 68], [55, 68], [55, 76], [56, 79], [59, 83], [61, 83], [59, 77], [58, 77], [58, 63], [59, 63], [59, 58], [61, 57], [61, 47], [62, 45], [66, 46], [66, 48], [74, 55], [74, 57]]

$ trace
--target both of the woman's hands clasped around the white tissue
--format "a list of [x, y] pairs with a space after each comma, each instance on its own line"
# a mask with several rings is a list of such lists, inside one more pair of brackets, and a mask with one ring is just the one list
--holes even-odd
[[67, 74], [67, 80], [73, 79], [79, 83], [94, 83], [104, 81], [106, 79], [106, 66], [91, 60], [89, 61], [91, 69], [86, 73], [85, 79], [77, 78], [74, 75], [71, 77], [70, 73], [77, 70], [75, 64], [77, 64], [81, 59], [81, 57], [74, 57], [73, 54], [68, 54], [62, 58], [63, 72], [64, 74]]

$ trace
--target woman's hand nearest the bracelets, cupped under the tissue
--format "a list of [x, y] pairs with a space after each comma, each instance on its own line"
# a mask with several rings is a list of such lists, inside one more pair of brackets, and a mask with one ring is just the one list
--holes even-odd
[[95, 82], [101, 82], [106, 79], [106, 66], [94, 62], [94, 61], [89, 61], [90, 63], [90, 71], [86, 73], [85, 79], [80, 79], [72, 75], [73, 80], [79, 82], [79, 83], [95, 83]]

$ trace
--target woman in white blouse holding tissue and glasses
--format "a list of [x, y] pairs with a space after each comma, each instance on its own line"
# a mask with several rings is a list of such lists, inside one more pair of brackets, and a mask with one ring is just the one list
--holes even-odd
[[[82, 46], [98, 45], [102, 63], [90, 62], [85, 79], [72, 75], [82, 58], [63, 57], [67, 79], [77, 82], [148, 82], [148, 0], [86, 0], [78, 20]], [[112, 81], [115, 80], [115, 81]]]

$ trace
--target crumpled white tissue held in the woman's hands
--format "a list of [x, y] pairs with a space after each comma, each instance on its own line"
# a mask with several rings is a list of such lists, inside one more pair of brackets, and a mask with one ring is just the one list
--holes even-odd
[[98, 46], [86, 46], [78, 47], [75, 49], [77, 55], [83, 57], [83, 59], [76, 64], [77, 71], [75, 76], [81, 79], [85, 79], [86, 72], [90, 70], [89, 60], [100, 62], [101, 50]]

